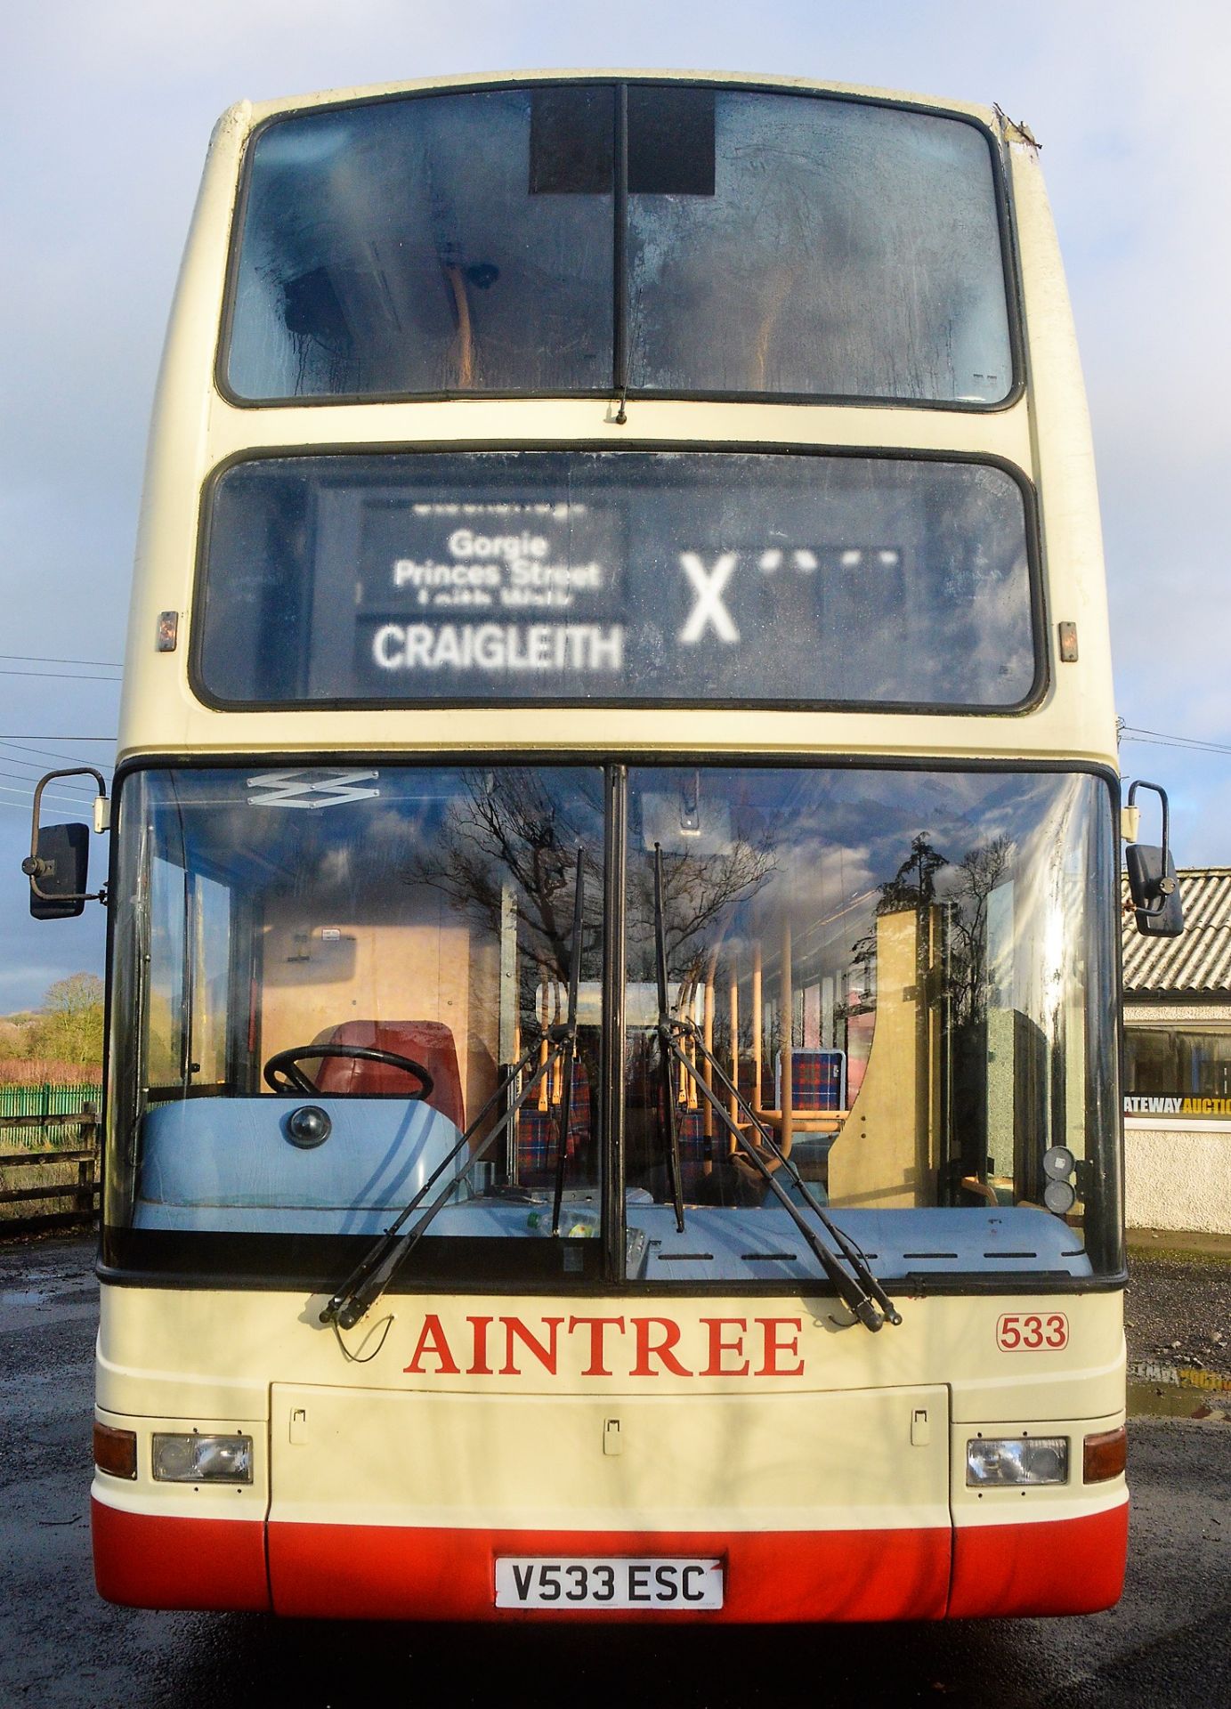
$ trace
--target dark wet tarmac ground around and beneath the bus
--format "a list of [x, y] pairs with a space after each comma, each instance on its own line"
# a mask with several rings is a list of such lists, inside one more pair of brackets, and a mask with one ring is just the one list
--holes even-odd
[[[97, 1285], [84, 1236], [0, 1244], [0, 1702], [38, 1709], [296, 1709], [945, 1702], [963, 1709], [1231, 1704], [1231, 1425], [1134, 1417], [1132, 1547], [1116, 1608], [1067, 1620], [898, 1627], [422, 1627], [150, 1613], [94, 1594], [91, 1384]], [[1231, 1371], [1231, 1263], [1149, 1253], [1130, 1357]], [[1175, 1342], [1180, 1347], [1175, 1347]], [[1149, 1383], [1142, 1384], [1147, 1391]], [[1180, 1384], [1157, 1381], [1157, 1389]], [[1193, 1391], [1193, 1405], [1209, 1405]]]

